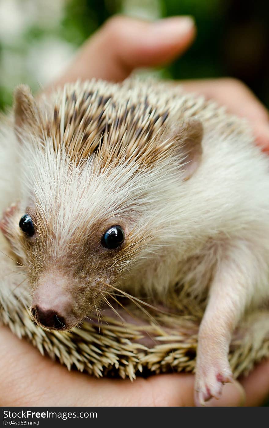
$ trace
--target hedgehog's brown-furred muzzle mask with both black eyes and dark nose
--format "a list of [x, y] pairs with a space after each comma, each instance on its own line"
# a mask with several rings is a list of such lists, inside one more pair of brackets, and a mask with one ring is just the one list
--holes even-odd
[[27, 270], [33, 317], [47, 329], [71, 329], [107, 302], [110, 284], [119, 284], [117, 261], [126, 260], [128, 226], [113, 219], [82, 226], [85, 239], [70, 235], [61, 247], [55, 225], [41, 221], [36, 207], [26, 211], [20, 217], [21, 208], [13, 205], [1, 229]]

